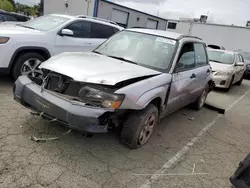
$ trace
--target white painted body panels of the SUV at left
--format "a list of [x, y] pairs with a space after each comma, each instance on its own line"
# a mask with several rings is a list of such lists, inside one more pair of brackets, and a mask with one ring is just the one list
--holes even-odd
[[[66, 26], [75, 21], [84, 20], [88, 22], [95, 22], [103, 25], [108, 25], [118, 30], [123, 29], [122, 27], [115, 24], [111, 24], [107, 21], [95, 20], [91, 18], [77, 18], [75, 16], [63, 14], [52, 15], [65, 17], [69, 20], [49, 31], [29, 29], [18, 26], [15, 23], [0, 23], [0, 37], [10, 38], [7, 43], [0, 45], [0, 54], [5, 51], [2, 49], [11, 49], [8, 50], [7, 53], [4, 53], [5, 58], [0, 59], [1, 69], [8, 68], [10, 71], [10, 64], [13, 55], [16, 51], [18, 51], [18, 49], [23, 47], [41, 47], [46, 49], [50, 53], [50, 55], [53, 56], [62, 52], [91, 51], [106, 40], [99, 38], [83, 39], [58, 35], [58, 33], [62, 29], [64, 29]], [[25, 22], [22, 22], [20, 24], [25, 24]]]

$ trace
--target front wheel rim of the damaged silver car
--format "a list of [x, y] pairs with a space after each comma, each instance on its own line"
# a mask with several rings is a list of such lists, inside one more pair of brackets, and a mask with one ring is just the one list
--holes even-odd
[[145, 121], [144, 128], [142, 129], [138, 143], [140, 145], [145, 144], [153, 133], [153, 129], [156, 122], [156, 116], [151, 114]]

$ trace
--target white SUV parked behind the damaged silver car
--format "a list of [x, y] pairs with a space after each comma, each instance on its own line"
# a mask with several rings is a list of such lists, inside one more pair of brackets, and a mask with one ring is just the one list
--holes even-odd
[[0, 72], [41, 77], [41, 62], [62, 52], [92, 51], [123, 28], [114, 22], [50, 14], [18, 25], [0, 24]]

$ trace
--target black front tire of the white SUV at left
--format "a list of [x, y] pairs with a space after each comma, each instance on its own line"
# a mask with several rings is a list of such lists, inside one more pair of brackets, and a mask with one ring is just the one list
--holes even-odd
[[12, 77], [14, 78], [14, 80], [16, 80], [21, 75], [21, 67], [29, 59], [38, 59], [41, 62], [46, 60], [44, 56], [35, 52], [27, 52], [27, 53], [21, 54], [20, 56], [16, 58], [13, 69], [12, 69]]

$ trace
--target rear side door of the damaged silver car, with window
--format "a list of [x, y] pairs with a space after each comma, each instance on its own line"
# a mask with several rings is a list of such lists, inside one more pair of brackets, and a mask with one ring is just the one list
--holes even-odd
[[195, 51], [195, 87], [192, 91], [191, 100], [196, 100], [203, 92], [205, 86], [208, 83], [208, 78], [210, 77], [211, 70], [209, 66], [209, 61], [205, 49], [205, 44], [194, 43]]

